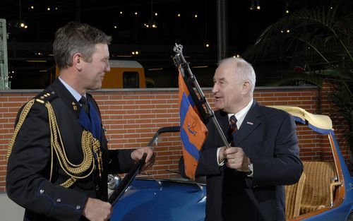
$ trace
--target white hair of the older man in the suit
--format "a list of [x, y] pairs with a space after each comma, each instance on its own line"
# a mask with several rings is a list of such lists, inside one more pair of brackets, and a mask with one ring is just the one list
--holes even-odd
[[238, 79], [239, 82], [244, 82], [246, 80], [249, 80], [250, 92], [252, 94], [253, 90], [255, 89], [255, 83], [256, 83], [256, 74], [255, 74], [255, 71], [253, 70], [253, 66], [251, 66], [251, 64], [249, 64], [244, 59], [241, 59], [238, 57], [229, 57], [227, 59], [223, 59], [218, 63], [218, 66], [228, 61], [235, 62], [237, 64], [237, 69], [235, 70], [235, 73], [237, 73], [237, 76], [239, 77]]

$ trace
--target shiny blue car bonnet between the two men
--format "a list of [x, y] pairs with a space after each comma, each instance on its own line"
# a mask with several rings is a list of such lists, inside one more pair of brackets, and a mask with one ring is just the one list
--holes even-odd
[[135, 179], [114, 205], [111, 220], [204, 220], [204, 187], [190, 182]]

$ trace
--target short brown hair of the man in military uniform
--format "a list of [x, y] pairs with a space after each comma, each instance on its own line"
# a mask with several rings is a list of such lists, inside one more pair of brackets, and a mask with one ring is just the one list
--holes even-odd
[[110, 44], [112, 37], [85, 23], [70, 22], [55, 32], [53, 53], [59, 69], [72, 66], [73, 54], [80, 53], [92, 61], [95, 44]]

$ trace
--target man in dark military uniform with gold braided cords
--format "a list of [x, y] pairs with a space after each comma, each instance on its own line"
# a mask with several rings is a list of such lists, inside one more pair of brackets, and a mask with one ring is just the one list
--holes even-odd
[[111, 37], [83, 23], [56, 31], [59, 78], [18, 112], [8, 148], [6, 190], [23, 206], [24, 220], [108, 220], [107, 174], [128, 172], [151, 148], [108, 150], [97, 103]]

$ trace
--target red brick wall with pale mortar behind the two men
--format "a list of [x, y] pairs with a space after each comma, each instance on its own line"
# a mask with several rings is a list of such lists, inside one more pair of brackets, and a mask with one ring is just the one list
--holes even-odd
[[[5, 191], [6, 151], [13, 133], [13, 122], [21, 105], [40, 90], [0, 91], [0, 192]], [[213, 106], [210, 89], [205, 96]], [[92, 92], [100, 105], [104, 127], [107, 129], [109, 148], [139, 148], [145, 146], [162, 126], [178, 126], [177, 89], [100, 90]], [[321, 113], [329, 104], [321, 101], [318, 88], [256, 88], [254, 97], [263, 105], [291, 105], [311, 113]], [[324, 105], [323, 105], [324, 104]], [[155, 149], [157, 161], [148, 171], [158, 178], [177, 177], [170, 171], [177, 170], [181, 155], [178, 133], [169, 133], [159, 139]], [[328, 143], [311, 131], [298, 128], [302, 160], [328, 160]], [[346, 159], [348, 158], [345, 153]]]

